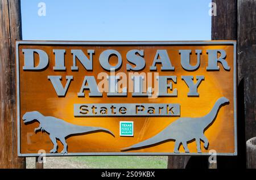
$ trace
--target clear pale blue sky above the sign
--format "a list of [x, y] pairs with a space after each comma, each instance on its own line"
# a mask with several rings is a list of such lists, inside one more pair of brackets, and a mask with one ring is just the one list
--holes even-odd
[[[39, 16], [38, 4], [46, 4]], [[23, 40], [210, 40], [211, 0], [21, 0]]]

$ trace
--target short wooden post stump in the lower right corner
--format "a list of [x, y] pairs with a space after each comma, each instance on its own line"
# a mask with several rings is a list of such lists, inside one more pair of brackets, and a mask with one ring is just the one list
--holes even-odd
[[256, 137], [247, 140], [246, 142], [246, 168], [256, 167]]

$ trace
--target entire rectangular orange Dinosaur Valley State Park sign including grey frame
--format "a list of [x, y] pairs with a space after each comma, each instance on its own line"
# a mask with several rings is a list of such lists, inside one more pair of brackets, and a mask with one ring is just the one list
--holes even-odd
[[17, 41], [18, 155], [237, 155], [236, 41]]

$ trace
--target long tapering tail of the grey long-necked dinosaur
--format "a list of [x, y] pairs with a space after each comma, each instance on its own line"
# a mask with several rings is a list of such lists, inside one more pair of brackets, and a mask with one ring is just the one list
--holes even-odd
[[164, 140], [172, 139], [171, 136], [170, 136], [170, 131], [168, 130], [168, 127], [169, 126], [167, 126], [163, 131], [159, 132], [158, 134], [156, 134], [152, 138], [146, 139], [141, 143], [131, 145], [130, 147], [122, 148], [121, 150], [126, 151], [128, 149], [144, 147], [144, 146], [148, 146], [148, 145], [163, 142]]

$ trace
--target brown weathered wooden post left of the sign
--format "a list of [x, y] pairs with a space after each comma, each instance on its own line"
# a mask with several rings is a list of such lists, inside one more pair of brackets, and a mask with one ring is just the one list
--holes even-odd
[[0, 168], [26, 168], [17, 156], [15, 40], [22, 38], [19, 0], [0, 0]]

